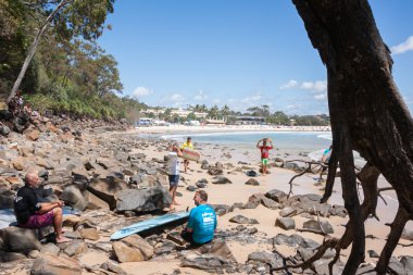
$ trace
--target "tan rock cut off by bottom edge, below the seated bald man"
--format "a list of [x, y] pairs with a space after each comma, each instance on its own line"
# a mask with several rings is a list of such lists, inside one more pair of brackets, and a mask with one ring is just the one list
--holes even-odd
[[77, 260], [46, 253], [35, 260], [32, 275], [80, 275], [82, 267]]

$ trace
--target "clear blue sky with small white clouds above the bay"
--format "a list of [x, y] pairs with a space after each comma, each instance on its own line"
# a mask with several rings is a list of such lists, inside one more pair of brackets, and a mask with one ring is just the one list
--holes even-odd
[[[371, 0], [413, 108], [413, 1]], [[99, 39], [118, 62], [123, 95], [149, 105], [267, 104], [328, 113], [326, 68], [290, 0], [118, 0]]]

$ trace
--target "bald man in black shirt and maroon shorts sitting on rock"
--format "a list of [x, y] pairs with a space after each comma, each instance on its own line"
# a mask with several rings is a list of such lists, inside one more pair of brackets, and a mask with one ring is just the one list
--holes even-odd
[[36, 173], [29, 172], [25, 177], [25, 186], [18, 189], [14, 198], [14, 214], [18, 226], [39, 228], [53, 224], [57, 242], [71, 241], [62, 235], [63, 201], [39, 202], [35, 192], [39, 183]]

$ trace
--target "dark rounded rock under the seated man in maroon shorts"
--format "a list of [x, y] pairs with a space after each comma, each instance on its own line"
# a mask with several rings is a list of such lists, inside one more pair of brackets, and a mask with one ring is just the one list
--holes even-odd
[[32, 250], [40, 250], [41, 243], [36, 229], [10, 226], [2, 229], [1, 238], [8, 251], [28, 254]]

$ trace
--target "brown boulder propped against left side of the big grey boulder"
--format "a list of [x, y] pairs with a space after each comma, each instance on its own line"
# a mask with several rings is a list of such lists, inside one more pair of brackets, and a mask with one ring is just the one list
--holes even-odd
[[127, 184], [118, 178], [93, 178], [89, 186], [88, 190], [108, 202], [111, 210], [116, 208], [116, 195], [122, 190], [127, 190]]

